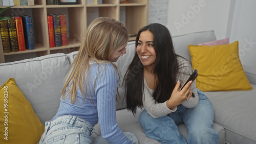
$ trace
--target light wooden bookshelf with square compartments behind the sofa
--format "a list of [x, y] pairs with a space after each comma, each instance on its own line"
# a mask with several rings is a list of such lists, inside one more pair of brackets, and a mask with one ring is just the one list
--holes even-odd
[[[149, 0], [127, 0], [130, 4], [120, 4], [119, 0], [102, 0], [102, 5], [87, 5], [86, 0], [78, 0], [77, 5], [46, 5], [46, 0], [34, 1], [34, 6], [15, 6], [6, 10], [3, 15], [31, 15], [35, 35], [35, 50], [4, 53], [2, 38], [0, 39], [0, 63], [11, 62], [12, 57], [19, 60], [44, 56], [54, 53], [70, 53], [79, 50], [86, 33], [87, 26], [97, 17], [111, 17], [124, 22], [130, 34], [136, 34], [140, 28], [148, 24]], [[0, 9], [8, 6], [0, 6]], [[92, 13], [90, 11], [94, 10]], [[125, 13], [120, 15], [121, 13]], [[68, 45], [51, 47], [49, 44], [47, 14], [63, 13], [66, 15]], [[97, 13], [97, 14], [95, 14]], [[1, 36], [1, 35], [0, 35]], [[130, 37], [129, 40], [135, 40]], [[17, 60], [17, 58], [15, 58]]]

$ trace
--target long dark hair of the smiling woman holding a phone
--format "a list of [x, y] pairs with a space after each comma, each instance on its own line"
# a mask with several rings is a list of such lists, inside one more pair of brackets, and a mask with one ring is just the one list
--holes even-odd
[[[159, 23], [147, 25], [138, 32], [136, 47], [140, 34], [144, 31], [150, 31], [154, 35], [153, 44], [156, 61], [152, 72], [157, 76], [158, 83], [153, 98], [156, 102], [163, 103], [170, 98], [177, 82], [178, 55], [174, 51], [172, 37], [168, 29]], [[133, 113], [136, 113], [137, 107], [141, 108], [143, 106], [143, 79], [143, 65], [136, 53], [124, 76], [127, 109]]]

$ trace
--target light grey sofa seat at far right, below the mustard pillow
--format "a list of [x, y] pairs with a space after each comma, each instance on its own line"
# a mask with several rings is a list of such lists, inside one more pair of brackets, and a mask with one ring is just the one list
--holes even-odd
[[251, 86], [248, 91], [205, 92], [214, 107], [214, 122], [226, 128], [228, 143], [256, 142], [256, 85]]

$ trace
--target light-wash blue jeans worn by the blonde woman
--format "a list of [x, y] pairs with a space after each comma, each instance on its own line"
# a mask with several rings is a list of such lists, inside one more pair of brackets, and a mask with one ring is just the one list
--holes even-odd
[[[101, 136], [93, 138], [93, 126], [76, 116], [63, 115], [54, 121], [46, 122], [45, 132], [38, 143], [109, 143]], [[133, 133], [125, 132], [127, 138], [138, 143]]]

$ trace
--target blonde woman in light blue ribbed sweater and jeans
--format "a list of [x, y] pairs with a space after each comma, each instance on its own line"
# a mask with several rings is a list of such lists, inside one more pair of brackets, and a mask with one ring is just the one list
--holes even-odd
[[[112, 62], [126, 53], [127, 42], [122, 23], [108, 17], [91, 23], [70, 66], [58, 112], [46, 122], [39, 143], [138, 143], [116, 122], [119, 75]], [[93, 139], [98, 122], [102, 137]]]

